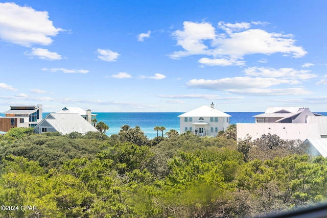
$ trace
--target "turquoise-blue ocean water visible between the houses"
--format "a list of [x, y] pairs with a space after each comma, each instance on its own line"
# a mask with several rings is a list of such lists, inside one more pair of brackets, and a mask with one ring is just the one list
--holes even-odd
[[[163, 126], [166, 128], [164, 130], [164, 135], [171, 129], [177, 130], [179, 132], [179, 117], [180, 114], [184, 112], [129, 112], [129, 113], [105, 113], [105, 112], [92, 112], [98, 114], [98, 122], [102, 121], [107, 124], [109, 130], [106, 131], [106, 135], [110, 136], [112, 134], [118, 134], [121, 127], [128, 125], [131, 128], [139, 126], [144, 134], [152, 139], [157, 136], [157, 131], [154, 131], [154, 127]], [[263, 112], [226, 112], [231, 115], [230, 124], [237, 123], [255, 123], [254, 115]], [[317, 112], [322, 115], [327, 115], [327, 112]], [[49, 113], [43, 113], [45, 117]], [[161, 131], [158, 132], [159, 136]]]

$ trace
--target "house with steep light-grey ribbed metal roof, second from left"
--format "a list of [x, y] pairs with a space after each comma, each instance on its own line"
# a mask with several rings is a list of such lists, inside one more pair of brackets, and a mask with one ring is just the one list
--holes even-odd
[[99, 132], [78, 113], [49, 113], [35, 127], [36, 133], [60, 132], [65, 135], [72, 132], [85, 134], [89, 131]]

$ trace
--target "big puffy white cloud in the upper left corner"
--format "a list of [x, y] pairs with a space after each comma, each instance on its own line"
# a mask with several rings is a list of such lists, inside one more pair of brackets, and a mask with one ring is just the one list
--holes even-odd
[[46, 11], [21, 7], [15, 3], [0, 3], [0, 38], [4, 41], [31, 46], [32, 44], [49, 45], [51, 36], [56, 36], [63, 29], [55, 28]]

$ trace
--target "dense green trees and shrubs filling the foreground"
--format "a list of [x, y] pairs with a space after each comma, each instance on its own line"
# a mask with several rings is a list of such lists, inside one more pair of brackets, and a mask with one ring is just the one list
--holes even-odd
[[235, 126], [218, 137], [171, 133], [11, 129], [0, 138], [0, 205], [37, 209], [0, 217], [241, 217], [327, 197], [327, 159], [299, 141], [237, 143]]

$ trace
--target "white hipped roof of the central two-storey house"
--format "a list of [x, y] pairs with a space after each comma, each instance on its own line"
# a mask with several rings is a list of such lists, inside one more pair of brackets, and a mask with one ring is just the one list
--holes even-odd
[[224, 113], [220, 110], [214, 109], [210, 106], [203, 105], [199, 108], [183, 113], [178, 117], [229, 117], [231, 115]]

